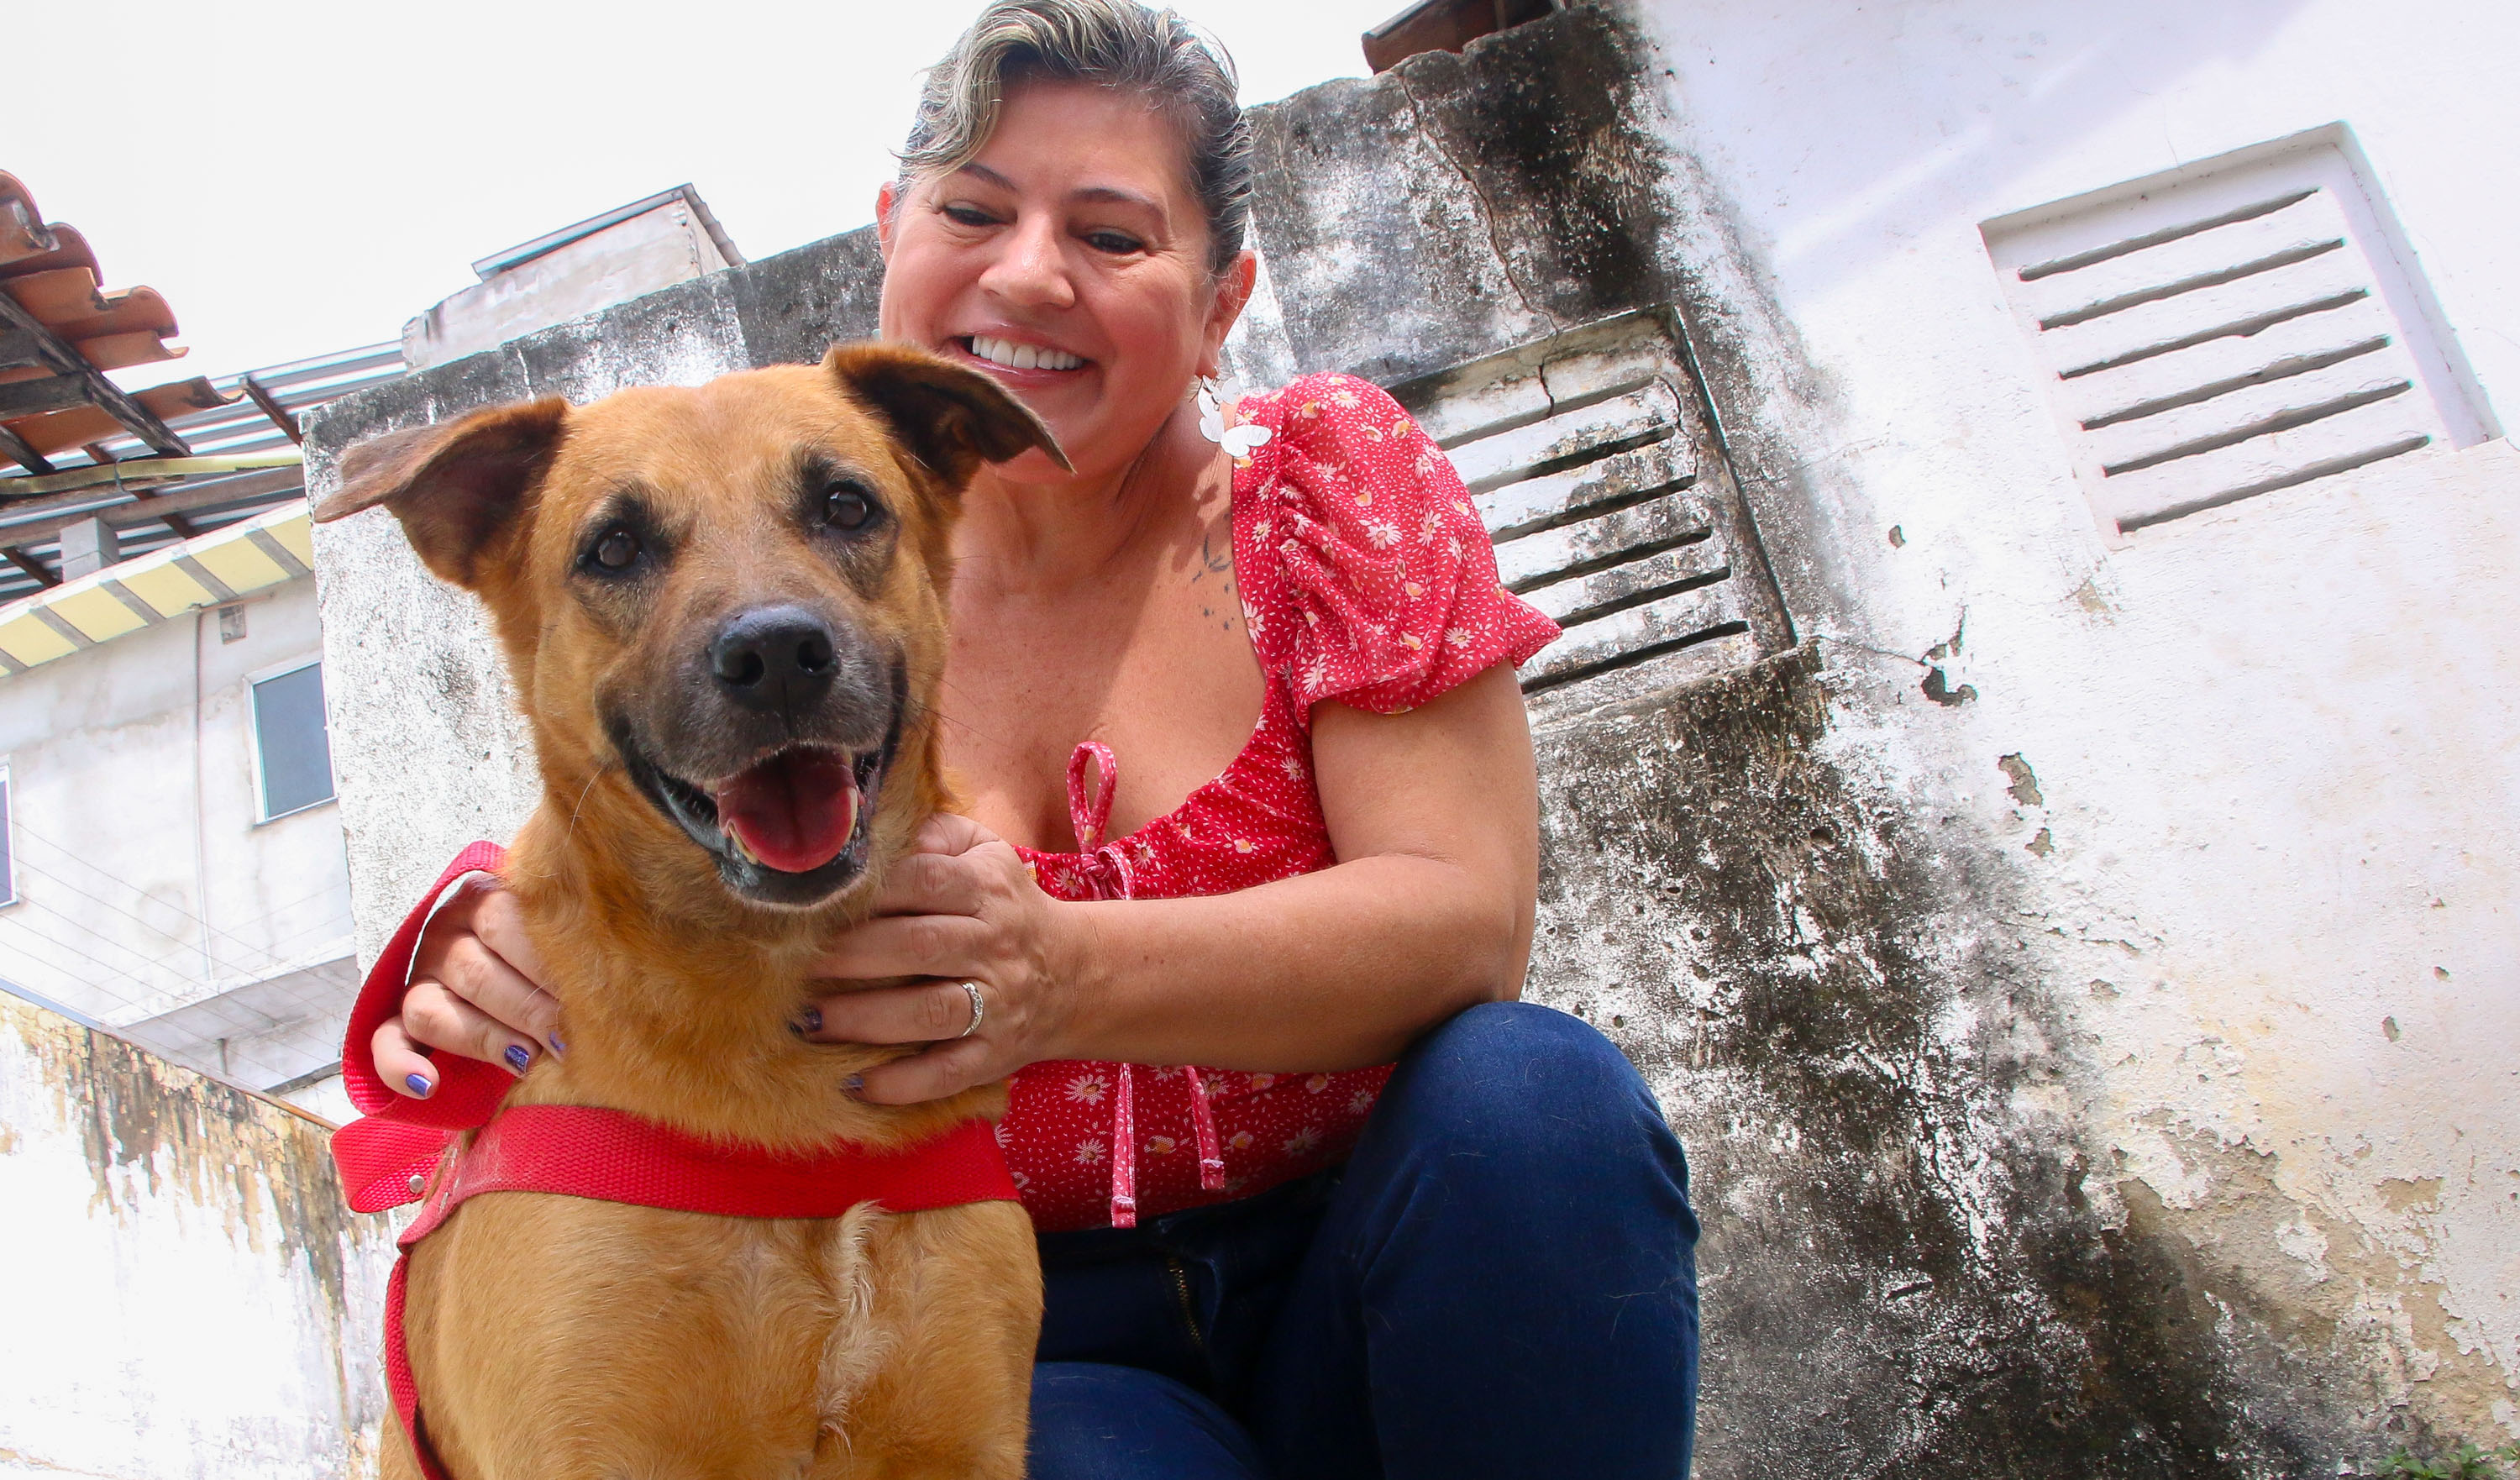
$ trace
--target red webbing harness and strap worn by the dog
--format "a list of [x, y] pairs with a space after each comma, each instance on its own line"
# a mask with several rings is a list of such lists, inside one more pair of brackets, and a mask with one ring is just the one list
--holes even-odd
[[[1013, 1203], [1016, 1180], [1005, 1170], [995, 1127], [970, 1119], [927, 1142], [874, 1152], [844, 1145], [816, 1155], [776, 1155], [761, 1147], [703, 1140], [620, 1109], [587, 1104], [517, 1104], [501, 1109], [512, 1077], [471, 1059], [438, 1067], [438, 1092], [403, 1099], [375, 1074], [370, 1039], [398, 1011], [411, 976], [411, 953], [431, 905], [454, 880], [496, 870], [507, 852], [489, 842], [466, 847], [438, 875], [393, 940], [368, 968], [343, 1069], [360, 1119], [333, 1132], [333, 1160], [358, 1213], [421, 1203], [418, 1218], [396, 1240], [403, 1251], [386, 1283], [386, 1384], [403, 1419], [421, 1475], [449, 1480], [421, 1427], [421, 1389], [411, 1377], [403, 1341], [403, 1281], [411, 1251], [436, 1233], [469, 1198], [481, 1193], [547, 1193], [635, 1208], [716, 1213], [723, 1218], [839, 1218], [862, 1203], [892, 1213]], [[456, 1150], [461, 1132], [476, 1130]]]

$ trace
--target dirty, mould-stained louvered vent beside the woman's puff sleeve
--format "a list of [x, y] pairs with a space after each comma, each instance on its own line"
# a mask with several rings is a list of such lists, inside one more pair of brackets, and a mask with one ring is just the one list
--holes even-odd
[[1522, 668], [1537, 711], [1681, 683], [1792, 640], [1661, 313], [1391, 391], [1462, 469], [1504, 587], [1565, 628]]

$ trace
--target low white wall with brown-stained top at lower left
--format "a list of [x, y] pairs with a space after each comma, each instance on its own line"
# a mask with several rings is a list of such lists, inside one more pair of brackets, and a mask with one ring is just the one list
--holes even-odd
[[323, 1124], [0, 996], [0, 1475], [375, 1475], [393, 1230]]

